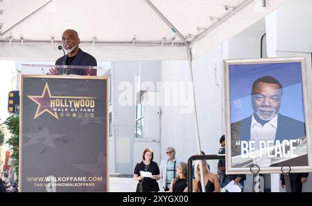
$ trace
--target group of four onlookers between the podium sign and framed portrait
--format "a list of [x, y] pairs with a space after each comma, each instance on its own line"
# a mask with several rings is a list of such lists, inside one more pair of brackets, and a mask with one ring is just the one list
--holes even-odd
[[[202, 151], [202, 154], [205, 153]], [[186, 192], [188, 191], [188, 168], [187, 163], [175, 158], [175, 149], [166, 148], [167, 158], [157, 165], [153, 161], [154, 152], [149, 147], [142, 153], [142, 161], [137, 163], [133, 179], [138, 181], [137, 192]], [[220, 178], [210, 171], [206, 160], [197, 160], [193, 165], [192, 187], [194, 192], [202, 191], [200, 182], [200, 162], [202, 162], [204, 184], [206, 192], [220, 191]], [[159, 181], [159, 184], [158, 182]], [[159, 188], [161, 185], [162, 188]]]

